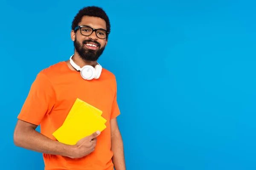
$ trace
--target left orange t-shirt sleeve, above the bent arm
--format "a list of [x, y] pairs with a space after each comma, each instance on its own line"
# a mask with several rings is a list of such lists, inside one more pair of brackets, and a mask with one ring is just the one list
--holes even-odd
[[32, 83], [18, 119], [39, 125], [55, 104], [55, 92], [49, 79], [40, 72]]

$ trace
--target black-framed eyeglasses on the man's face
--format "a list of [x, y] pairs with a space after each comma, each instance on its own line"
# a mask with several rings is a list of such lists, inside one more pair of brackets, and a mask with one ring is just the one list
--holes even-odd
[[105, 39], [108, 37], [109, 32], [106, 31], [105, 29], [94, 29], [91, 28], [90, 26], [77, 26], [74, 31], [78, 30], [80, 28], [80, 32], [84, 36], [90, 36], [93, 34], [93, 31], [96, 32], [96, 36], [100, 39]]

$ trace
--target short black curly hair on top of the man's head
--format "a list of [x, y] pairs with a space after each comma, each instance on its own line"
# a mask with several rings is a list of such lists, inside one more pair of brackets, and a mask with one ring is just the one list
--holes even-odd
[[84, 16], [102, 18], [106, 22], [107, 31], [110, 32], [110, 21], [108, 15], [102, 8], [97, 6], [87, 6], [80, 9], [72, 22], [72, 30], [74, 30], [76, 26], [78, 26], [78, 24], [81, 22], [82, 17]]

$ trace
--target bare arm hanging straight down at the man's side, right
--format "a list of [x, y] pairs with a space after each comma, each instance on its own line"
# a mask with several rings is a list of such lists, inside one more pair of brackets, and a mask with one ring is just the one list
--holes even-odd
[[116, 170], [126, 170], [125, 167], [125, 156], [122, 136], [119, 131], [117, 120], [110, 120], [111, 126], [111, 150], [113, 152], [113, 164]]

